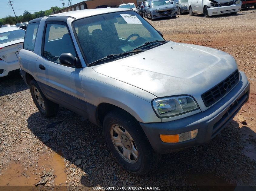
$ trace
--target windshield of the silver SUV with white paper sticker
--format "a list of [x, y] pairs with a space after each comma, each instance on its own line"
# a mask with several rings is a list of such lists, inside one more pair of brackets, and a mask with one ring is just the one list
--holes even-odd
[[132, 51], [146, 42], [163, 41], [160, 34], [134, 11], [95, 15], [73, 22], [88, 63], [110, 54]]

